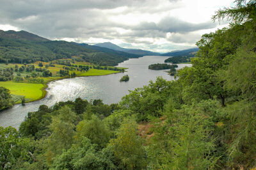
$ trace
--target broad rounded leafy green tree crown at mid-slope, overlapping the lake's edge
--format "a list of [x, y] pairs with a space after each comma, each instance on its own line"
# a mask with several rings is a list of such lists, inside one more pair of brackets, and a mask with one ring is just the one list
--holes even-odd
[[155, 83], [150, 81], [148, 86], [137, 88], [125, 95], [120, 102], [122, 109], [129, 109], [138, 115], [138, 120], [148, 120], [148, 116], [161, 116], [161, 109], [166, 103], [166, 98], [176, 95], [175, 87], [161, 77]]

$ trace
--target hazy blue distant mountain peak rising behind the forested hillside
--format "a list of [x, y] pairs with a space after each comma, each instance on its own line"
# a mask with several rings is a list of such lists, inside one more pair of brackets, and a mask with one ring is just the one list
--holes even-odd
[[114, 43], [111, 43], [111, 42], [97, 43], [94, 46], [104, 47], [104, 48], [118, 50], [118, 51], [122, 51], [122, 52], [128, 52], [130, 54], [138, 54], [138, 55], [142, 55], [142, 56], [160, 56], [161, 55], [158, 52], [151, 52], [149, 50], [125, 49], [125, 48], [119, 47], [118, 45], [115, 45]]

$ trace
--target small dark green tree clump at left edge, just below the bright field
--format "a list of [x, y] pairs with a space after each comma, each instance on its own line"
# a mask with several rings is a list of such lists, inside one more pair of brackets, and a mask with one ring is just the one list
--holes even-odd
[[0, 87], [0, 111], [13, 106], [10, 90]]

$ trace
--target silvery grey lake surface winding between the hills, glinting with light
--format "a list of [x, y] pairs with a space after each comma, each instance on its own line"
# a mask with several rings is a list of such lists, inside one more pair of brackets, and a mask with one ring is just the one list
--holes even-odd
[[[17, 104], [11, 109], [0, 112], [0, 126], [12, 126], [18, 129], [28, 112], [37, 111], [40, 105], [44, 104], [51, 107], [57, 102], [76, 100], [77, 97], [88, 101], [100, 98], [105, 104], [118, 103], [124, 95], [129, 94], [129, 90], [142, 88], [150, 80], [156, 81], [159, 76], [169, 81], [174, 80], [174, 77], [168, 75], [166, 70], [148, 69], [148, 65], [164, 63], [164, 59], [167, 58], [166, 56], [144, 56], [143, 58], [129, 59], [118, 65], [128, 68], [125, 73], [76, 77], [49, 82], [46, 89], [47, 95], [42, 100], [30, 102], [24, 106]], [[178, 66], [177, 69], [190, 65], [179, 64]], [[126, 74], [129, 75], [130, 80], [119, 82], [121, 77]]]

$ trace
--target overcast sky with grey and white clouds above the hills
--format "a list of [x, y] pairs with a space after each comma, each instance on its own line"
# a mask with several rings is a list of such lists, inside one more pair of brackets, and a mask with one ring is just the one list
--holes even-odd
[[0, 29], [28, 31], [50, 40], [168, 52], [195, 47], [234, 0], [0, 0]]

